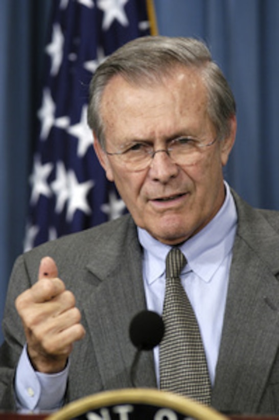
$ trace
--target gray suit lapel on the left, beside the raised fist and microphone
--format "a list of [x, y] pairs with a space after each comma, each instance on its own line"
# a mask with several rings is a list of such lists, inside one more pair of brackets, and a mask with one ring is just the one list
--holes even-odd
[[[146, 308], [142, 251], [134, 227], [124, 243], [112, 239], [105, 248], [98, 263], [87, 266], [88, 276], [97, 286], [83, 308], [102, 383], [119, 388], [131, 386], [135, 348], [129, 339], [130, 321]], [[152, 352], [145, 352], [139, 361], [136, 386], [156, 386]]]

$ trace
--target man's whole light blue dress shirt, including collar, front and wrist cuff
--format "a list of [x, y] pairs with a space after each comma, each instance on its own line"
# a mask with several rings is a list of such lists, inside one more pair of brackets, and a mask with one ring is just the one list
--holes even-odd
[[[236, 206], [226, 182], [225, 188], [225, 201], [214, 219], [180, 246], [188, 261], [182, 270], [181, 281], [196, 313], [212, 383], [237, 229]], [[156, 241], [141, 228], [138, 228], [138, 238], [144, 248], [143, 278], [147, 307], [161, 314], [165, 295], [165, 260], [171, 247]], [[158, 346], [154, 349], [154, 360], [159, 383]], [[18, 411], [51, 411], [61, 406], [68, 368], [67, 365], [62, 372], [51, 375], [34, 371], [25, 346], [15, 376]]]

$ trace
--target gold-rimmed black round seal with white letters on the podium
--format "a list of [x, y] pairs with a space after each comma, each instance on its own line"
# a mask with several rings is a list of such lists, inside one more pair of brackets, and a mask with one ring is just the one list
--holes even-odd
[[47, 420], [227, 420], [211, 407], [150, 388], [104, 391], [69, 403]]

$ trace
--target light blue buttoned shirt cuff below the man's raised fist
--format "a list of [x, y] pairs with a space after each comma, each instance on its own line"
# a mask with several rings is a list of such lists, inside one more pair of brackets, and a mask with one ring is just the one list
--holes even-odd
[[22, 350], [15, 374], [15, 395], [19, 412], [54, 411], [63, 405], [69, 363], [58, 373], [34, 370], [27, 346]]

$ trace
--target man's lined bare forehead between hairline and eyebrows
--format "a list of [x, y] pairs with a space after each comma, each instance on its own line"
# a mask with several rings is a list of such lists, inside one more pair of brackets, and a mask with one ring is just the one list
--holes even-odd
[[[142, 123], [141, 117], [156, 123], [154, 119], [166, 113], [168, 120], [181, 115], [192, 117], [195, 114], [206, 114], [207, 95], [201, 74], [197, 69], [177, 68], [172, 75], [161, 76], [152, 86], [150, 83], [135, 83], [127, 81], [120, 75], [113, 76], [106, 86], [101, 101], [101, 117], [104, 129], [113, 130], [121, 121], [125, 124], [125, 117], [130, 123], [133, 118]], [[141, 104], [143, 108], [141, 108]], [[167, 122], [167, 121], [166, 121]]]

